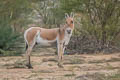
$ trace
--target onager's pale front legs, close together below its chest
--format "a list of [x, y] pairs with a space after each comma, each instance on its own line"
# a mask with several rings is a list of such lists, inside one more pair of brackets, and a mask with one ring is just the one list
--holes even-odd
[[63, 43], [58, 43], [57, 44], [58, 48], [58, 66], [63, 67], [62, 59], [63, 59], [63, 53], [64, 53], [64, 48], [63, 48]]

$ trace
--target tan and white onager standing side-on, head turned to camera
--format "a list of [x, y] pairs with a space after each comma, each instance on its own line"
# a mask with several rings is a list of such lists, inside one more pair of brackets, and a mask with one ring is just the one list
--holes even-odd
[[26, 43], [27, 67], [32, 68], [30, 62], [30, 53], [36, 44], [46, 46], [48, 44], [57, 43], [58, 66], [62, 66], [64, 49], [68, 45], [74, 29], [74, 15], [65, 14], [66, 23], [60, 28], [45, 29], [40, 27], [31, 27], [24, 33]]

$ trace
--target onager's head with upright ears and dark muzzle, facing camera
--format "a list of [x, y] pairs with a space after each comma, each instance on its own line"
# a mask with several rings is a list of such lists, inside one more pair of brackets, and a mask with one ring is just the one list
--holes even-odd
[[74, 14], [71, 13], [70, 15], [68, 15], [67, 13], [65, 13], [65, 19], [66, 19], [66, 33], [67, 34], [71, 34], [73, 29], [74, 29]]

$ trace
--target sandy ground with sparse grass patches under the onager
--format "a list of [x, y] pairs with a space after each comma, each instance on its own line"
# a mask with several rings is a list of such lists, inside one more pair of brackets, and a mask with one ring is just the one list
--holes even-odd
[[31, 62], [33, 69], [27, 69], [23, 56], [0, 57], [0, 80], [104, 80], [99, 75], [120, 71], [120, 53], [64, 55], [59, 68], [54, 50], [45, 49], [32, 52]]

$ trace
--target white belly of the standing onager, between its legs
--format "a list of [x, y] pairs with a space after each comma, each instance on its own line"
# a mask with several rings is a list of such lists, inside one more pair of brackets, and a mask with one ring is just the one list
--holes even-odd
[[42, 46], [52, 46], [55, 44], [56, 42], [56, 39], [55, 40], [45, 40], [43, 38], [41, 38], [40, 36], [38, 36], [36, 38], [36, 42], [39, 44], [39, 45], [42, 45]]

